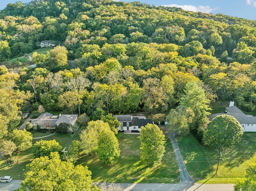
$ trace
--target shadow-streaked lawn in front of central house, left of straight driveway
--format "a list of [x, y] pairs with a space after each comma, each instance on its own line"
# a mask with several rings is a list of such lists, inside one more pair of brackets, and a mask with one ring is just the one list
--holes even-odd
[[104, 165], [96, 154], [83, 156], [78, 163], [87, 165], [94, 182], [177, 183], [180, 174], [172, 144], [166, 139], [166, 152], [160, 164], [147, 168], [140, 161], [140, 135], [118, 133], [120, 158], [113, 165]]

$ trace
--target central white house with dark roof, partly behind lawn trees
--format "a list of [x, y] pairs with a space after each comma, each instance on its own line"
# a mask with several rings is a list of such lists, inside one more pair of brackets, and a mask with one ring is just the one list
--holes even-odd
[[124, 132], [140, 132], [142, 126], [146, 124], [154, 124], [152, 118], [146, 118], [145, 116], [132, 116], [132, 115], [114, 115], [120, 122], [118, 131]]

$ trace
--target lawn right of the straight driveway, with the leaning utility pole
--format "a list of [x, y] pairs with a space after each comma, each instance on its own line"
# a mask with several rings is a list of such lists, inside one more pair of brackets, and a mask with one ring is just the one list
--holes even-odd
[[[216, 173], [220, 152], [203, 146], [191, 134], [181, 138], [178, 144], [188, 173], [197, 183], [203, 183]], [[222, 151], [223, 160], [217, 174], [207, 183], [234, 183], [245, 178], [246, 169], [256, 163], [256, 133], [246, 132], [233, 148]]]

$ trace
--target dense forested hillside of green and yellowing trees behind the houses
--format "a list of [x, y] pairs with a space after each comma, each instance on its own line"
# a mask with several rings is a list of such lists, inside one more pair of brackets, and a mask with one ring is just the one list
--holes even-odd
[[0, 68], [2, 136], [19, 112], [39, 104], [79, 114], [163, 112], [191, 81], [210, 101], [254, 109], [256, 21], [111, 0], [33, 0], [1, 10], [2, 62], [44, 40], [56, 47], [33, 53], [35, 69]]

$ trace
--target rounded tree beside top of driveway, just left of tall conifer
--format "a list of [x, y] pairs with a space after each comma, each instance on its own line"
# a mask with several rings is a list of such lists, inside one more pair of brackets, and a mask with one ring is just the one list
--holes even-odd
[[180, 105], [171, 109], [168, 116], [166, 116], [166, 120], [170, 123], [168, 128], [178, 136], [186, 136], [190, 133], [189, 125], [192, 123], [194, 116], [192, 109], [186, 106]]

